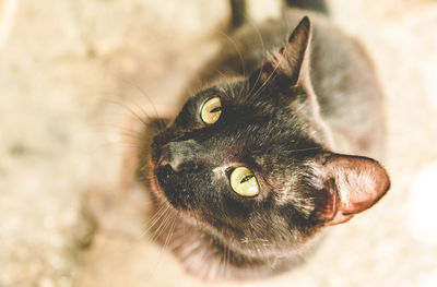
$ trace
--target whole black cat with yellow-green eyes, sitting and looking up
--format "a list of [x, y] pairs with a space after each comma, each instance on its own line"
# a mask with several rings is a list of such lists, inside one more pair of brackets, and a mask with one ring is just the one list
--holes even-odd
[[292, 270], [326, 227], [390, 188], [373, 159], [385, 129], [369, 58], [324, 2], [294, 2], [253, 25], [245, 2], [231, 1], [232, 40], [192, 81], [201, 88], [175, 120], [144, 129], [138, 178], [151, 191], [152, 232], [205, 280]]

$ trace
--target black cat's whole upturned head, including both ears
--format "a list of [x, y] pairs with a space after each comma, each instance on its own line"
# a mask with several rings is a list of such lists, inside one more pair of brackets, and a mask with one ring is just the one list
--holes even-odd
[[374, 205], [390, 184], [377, 162], [331, 152], [309, 44], [304, 17], [258, 71], [197, 93], [153, 140], [155, 192], [241, 252], [298, 247]]

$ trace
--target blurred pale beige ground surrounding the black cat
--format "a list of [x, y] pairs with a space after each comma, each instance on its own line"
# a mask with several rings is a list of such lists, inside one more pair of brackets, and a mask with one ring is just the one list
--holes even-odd
[[147, 235], [132, 151], [225, 40], [227, 0], [0, 0], [0, 286], [437, 286], [437, 1], [328, 3], [380, 75], [392, 189], [305, 266], [206, 285]]

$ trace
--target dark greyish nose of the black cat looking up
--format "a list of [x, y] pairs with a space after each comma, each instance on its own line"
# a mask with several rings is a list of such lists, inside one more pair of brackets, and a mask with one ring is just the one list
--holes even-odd
[[181, 169], [197, 168], [199, 145], [193, 140], [182, 142], [169, 142], [161, 148], [158, 165], [170, 166], [176, 172]]

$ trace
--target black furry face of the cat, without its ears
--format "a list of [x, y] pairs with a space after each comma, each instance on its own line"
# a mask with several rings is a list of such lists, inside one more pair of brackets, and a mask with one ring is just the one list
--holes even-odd
[[[305, 91], [290, 93], [238, 81], [192, 96], [154, 139], [154, 172], [166, 200], [235, 241], [296, 243], [310, 236], [316, 203], [326, 196], [314, 188], [312, 166], [324, 150], [308, 120]], [[218, 116], [206, 123], [204, 109], [217, 108], [205, 106], [211, 99], [220, 99]], [[241, 167], [250, 182], [243, 177], [233, 184]], [[245, 193], [245, 183], [255, 191]]]

